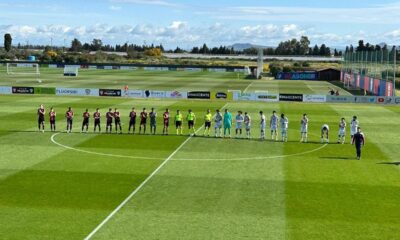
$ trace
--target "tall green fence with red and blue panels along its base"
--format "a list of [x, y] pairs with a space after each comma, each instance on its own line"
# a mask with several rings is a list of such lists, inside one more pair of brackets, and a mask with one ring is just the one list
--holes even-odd
[[362, 89], [377, 96], [396, 96], [396, 47], [379, 51], [347, 52], [344, 55], [340, 80], [348, 89]]

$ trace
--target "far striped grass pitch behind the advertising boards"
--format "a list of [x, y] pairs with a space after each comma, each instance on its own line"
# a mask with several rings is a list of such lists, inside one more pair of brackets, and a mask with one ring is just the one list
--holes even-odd
[[[27, 71], [19, 71], [22, 70]], [[128, 85], [130, 89], [139, 90], [241, 90], [304, 94], [328, 94], [330, 88], [338, 89], [330, 83], [317, 81], [298, 81], [297, 84], [292, 84], [291, 81], [247, 80], [243, 74], [237, 73], [81, 69], [77, 78], [64, 77], [63, 69], [41, 68], [40, 73], [40, 76], [7, 75], [5, 66], [0, 66], [0, 85], [117, 89]], [[38, 79], [41, 83], [38, 83]], [[341, 90], [341, 94], [349, 93]]]

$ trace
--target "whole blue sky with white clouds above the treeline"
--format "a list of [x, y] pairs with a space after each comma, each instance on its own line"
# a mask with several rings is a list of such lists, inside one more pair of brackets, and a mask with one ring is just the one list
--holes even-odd
[[191, 48], [233, 43], [276, 46], [309, 36], [330, 46], [399, 44], [400, 1], [69, 0], [0, 2], [0, 34], [14, 43], [163, 43]]

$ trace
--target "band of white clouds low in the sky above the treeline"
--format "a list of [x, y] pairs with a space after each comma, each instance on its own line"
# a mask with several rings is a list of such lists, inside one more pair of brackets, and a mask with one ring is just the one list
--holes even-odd
[[231, 26], [215, 23], [206, 26], [191, 26], [187, 22], [173, 21], [165, 26], [138, 25], [0, 25], [1, 33], [11, 33], [14, 43], [25, 42], [48, 44], [53, 38], [55, 44], [62, 44], [64, 39], [78, 38], [83, 42], [90, 42], [93, 38], [100, 38], [104, 43], [163, 43], [167, 47], [192, 47], [207, 43], [210, 46], [230, 45], [233, 43], [254, 43], [276, 46], [279, 42], [300, 38], [306, 35], [312, 44], [326, 43], [329, 46], [343, 46], [357, 44], [359, 39], [370, 43], [387, 42], [393, 44], [400, 37], [400, 29], [371, 34], [357, 32], [352, 34], [335, 34], [319, 32], [313, 28], [304, 28], [297, 24], [259, 24]]

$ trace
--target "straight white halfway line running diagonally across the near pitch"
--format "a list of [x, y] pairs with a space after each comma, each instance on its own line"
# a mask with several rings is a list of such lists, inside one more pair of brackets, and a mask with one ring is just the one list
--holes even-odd
[[[222, 108], [226, 108], [226, 106], [227, 106], [228, 104], [225, 104]], [[195, 132], [195, 133], [197, 133], [198, 131], [200, 131], [201, 129], [202, 129], [203, 127], [201, 127], [201, 128], [199, 128], [199, 129], [197, 129], [197, 131]], [[131, 200], [132, 199], [132, 197], [134, 197], [135, 195], [136, 195], [136, 193], [138, 193], [139, 191], [140, 191], [140, 189], [142, 189], [143, 187], [144, 187], [144, 185], [146, 185], [146, 183], [148, 182], [148, 181], [150, 181], [150, 179], [154, 176], [154, 175], [156, 175], [157, 173], [158, 173], [158, 171], [160, 171], [160, 169], [162, 168], [162, 167], [164, 167], [165, 166], [165, 164], [167, 164], [168, 162], [169, 162], [169, 160], [171, 160], [171, 158], [173, 157], [173, 156], [175, 156], [175, 154], [177, 153], [177, 152], [179, 152], [179, 150], [181, 150], [181, 148], [183, 147], [183, 146], [185, 146], [185, 144], [187, 143], [187, 142], [189, 142], [189, 140], [190, 139], [192, 139], [192, 136], [189, 136], [177, 149], [175, 149], [175, 151], [173, 152], [173, 153], [171, 153], [171, 155], [169, 155], [168, 156], [168, 158], [166, 158], [165, 160], [164, 160], [164, 162], [162, 162], [161, 164], [160, 164], [160, 166], [158, 166], [157, 168], [156, 168], [156, 170], [154, 170], [127, 198], [125, 198], [125, 200], [121, 203], [121, 204], [119, 204], [118, 205], [118, 207], [116, 207], [99, 225], [97, 225], [97, 227], [95, 228], [95, 229], [93, 229], [93, 231], [92, 232], [90, 232], [89, 233], [89, 235], [87, 235], [85, 238], [84, 238], [84, 240], [89, 240], [89, 239], [91, 239], [99, 230], [100, 230], [100, 228], [102, 228], [123, 206], [125, 206], [125, 204], [127, 203], [127, 202], [129, 202], [129, 200]]]

